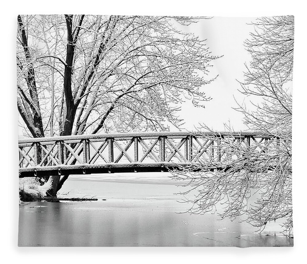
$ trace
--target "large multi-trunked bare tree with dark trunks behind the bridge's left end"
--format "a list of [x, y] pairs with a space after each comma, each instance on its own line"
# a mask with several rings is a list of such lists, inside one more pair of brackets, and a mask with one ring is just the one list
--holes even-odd
[[[25, 135], [168, 130], [180, 103], [210, 98], [216, 59], [179, 31], [190, 17], [18, 16], [17, 106]], [[39, 150], [42, 154], [42, 150]], [[55, 196], [68, 175], [45, 177]], [[48, 183], [48, 184], [46, 184]]]

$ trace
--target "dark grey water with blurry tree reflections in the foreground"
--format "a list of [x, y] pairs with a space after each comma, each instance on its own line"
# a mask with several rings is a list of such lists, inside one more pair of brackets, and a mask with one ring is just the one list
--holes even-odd
[[236, 228], [239, 223], [223, 227], [220, 221], [214, 222], [212, 215], [204, 217], [136, 208], [111, 210], [103, 202], [45, 205], [37, 202], [20, 207], [19, 246], [259, 247], [293, 244], [293, 239], [281, 236], [241, 235], [242, 230]]

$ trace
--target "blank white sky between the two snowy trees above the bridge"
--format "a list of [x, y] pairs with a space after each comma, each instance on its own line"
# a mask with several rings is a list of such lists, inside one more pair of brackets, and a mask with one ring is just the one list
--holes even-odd
[[195, 130], [194, 126], [205, 123], [213, 130], [224, 131], [223, 124], [229, 122], [235, 131], [247, 129], [242, 122], [242, 114], [232, 107], [236, 106], [234, 97], [239, 102], [245, 97], [238, 91], [240, 85], [236, 79], [244, 80], [244, 63], [248, 65], [251, 59], [243, 43], [249, 38], [249, 33], [254, 31], [254, 26], [248, 25], [254, 20], [251, 17], [212, 17], [182, 27], [186, 32], [207, 39], [206, 43], [212, 55], [223, 55], [212, 62], [211, 77], [219, 76], [205, 86], [207, 95], [212, 97], [212, 100], [206, 103], [206, 108], [196, 108], [188, 102], [183, 106], [180, 117], [186, 122], [185, 129]]

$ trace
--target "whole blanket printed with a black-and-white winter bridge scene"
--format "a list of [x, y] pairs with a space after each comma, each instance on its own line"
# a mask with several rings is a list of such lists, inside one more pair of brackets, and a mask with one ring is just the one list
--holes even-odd
[[293, 15], [16, 24], [19, 247], [293, 247]]

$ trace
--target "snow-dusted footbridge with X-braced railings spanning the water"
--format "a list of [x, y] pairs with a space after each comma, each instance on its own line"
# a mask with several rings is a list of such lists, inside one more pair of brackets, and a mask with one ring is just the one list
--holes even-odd
[[272, 135], [248, 133], [122, 133], [20, 139], [19, 177], [168, 172], [200, 159], [229, 156], [229, 142], [262, 151]]

